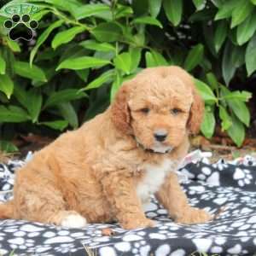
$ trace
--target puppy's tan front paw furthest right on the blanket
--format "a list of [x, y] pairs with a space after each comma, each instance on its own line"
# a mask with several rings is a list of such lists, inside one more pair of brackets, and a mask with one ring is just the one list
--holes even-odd
[[212, 220], [212, 215], [203, 209], [189, 207], [175, 219], [180, 224], [200, 224]]

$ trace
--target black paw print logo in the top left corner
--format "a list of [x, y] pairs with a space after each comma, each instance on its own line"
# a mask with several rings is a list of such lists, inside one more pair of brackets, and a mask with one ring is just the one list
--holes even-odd
[[29, 15], [13, 15], [11, 20], [5, 20], [3, 26], [9, 30], [11, 40], [24, 39], [32, 40], [34, 29], [38, 27], [36, 20], [30, 20]]

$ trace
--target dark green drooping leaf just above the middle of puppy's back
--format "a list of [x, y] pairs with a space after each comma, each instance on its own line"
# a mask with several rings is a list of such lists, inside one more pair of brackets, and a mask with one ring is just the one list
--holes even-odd
[[69, 125], [73, 128], [79, 127], [78, 115], [70, 102], [63, 102], [58, 104], [61, 116], [67, 120]]

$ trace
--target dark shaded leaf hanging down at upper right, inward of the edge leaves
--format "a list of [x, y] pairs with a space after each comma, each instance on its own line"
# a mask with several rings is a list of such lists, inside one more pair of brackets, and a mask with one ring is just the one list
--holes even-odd
[[224, 56], [222, 60], [222, 73], [225, 84], [230, 84], [236, 68], [240, 67], [244, 61], [244, 50], [241, 47], [235, 46], [230, 42], [225, 44]]

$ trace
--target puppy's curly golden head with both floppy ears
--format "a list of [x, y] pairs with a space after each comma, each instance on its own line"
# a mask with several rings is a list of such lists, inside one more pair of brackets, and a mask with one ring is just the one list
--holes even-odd
[[125, 82], [112, 104], [113, 124], [145, 149], [166, 153], [200, 130], [204, 103], [180, 67], [145, 69]]

